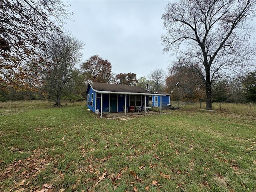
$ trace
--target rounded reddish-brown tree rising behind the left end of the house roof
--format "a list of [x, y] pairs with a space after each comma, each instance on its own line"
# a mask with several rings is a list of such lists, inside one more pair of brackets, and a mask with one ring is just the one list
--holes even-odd
[[81, 68], [85, 73], [86, 81], [110, 83], [112, 80], [111, 63], [98, 55], [91, 56]]

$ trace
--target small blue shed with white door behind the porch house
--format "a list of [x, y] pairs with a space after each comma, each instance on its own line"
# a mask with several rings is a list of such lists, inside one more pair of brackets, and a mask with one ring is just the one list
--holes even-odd
[[152, 106], [153, 107], [164, 107], [170, 105], [171, 94], [167, 92], [154, 92], [155, 95], [152, 96]]

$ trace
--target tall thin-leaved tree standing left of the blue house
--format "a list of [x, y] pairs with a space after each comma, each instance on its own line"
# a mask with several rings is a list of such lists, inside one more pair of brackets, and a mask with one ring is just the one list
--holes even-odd
[[61, 96], [72, 80], [72, 69], [82, 57], [80, 50], [84, 44], [68, 33], [52, 36], [48, 46], [46, 55], [50, 67], [46, 74], [46, 92], [56, 106], [60, 106]]

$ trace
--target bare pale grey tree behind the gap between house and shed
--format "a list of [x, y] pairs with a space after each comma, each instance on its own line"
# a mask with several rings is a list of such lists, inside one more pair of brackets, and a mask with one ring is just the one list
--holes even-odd
[[163, 69], [155, 69], [150, 74], [148, 78], [154, 87], [154, 91], [160, 91], [164, 86], [165, 72]]

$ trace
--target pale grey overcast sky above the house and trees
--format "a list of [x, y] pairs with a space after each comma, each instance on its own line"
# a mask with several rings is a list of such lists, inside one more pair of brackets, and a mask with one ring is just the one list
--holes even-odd
[[[152, 70], [166, 71], [170, 54], [163, 54], [165, 33], [161, 16], [166, 0], [69, 0], [74, 14], [65, 28], [85, 43], [83, 62], [98, 54], [112, 64], [112, 72], [136, 73], [137, 79]], [[254, 20], [254, 26], [256, 26]], [[254, 33], [256, 34], [256, 33]]]

